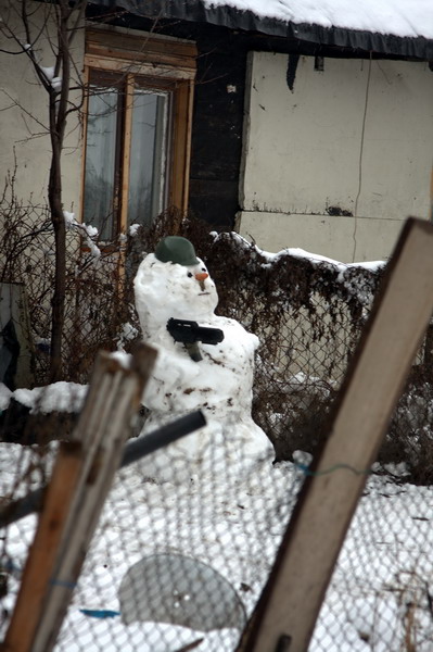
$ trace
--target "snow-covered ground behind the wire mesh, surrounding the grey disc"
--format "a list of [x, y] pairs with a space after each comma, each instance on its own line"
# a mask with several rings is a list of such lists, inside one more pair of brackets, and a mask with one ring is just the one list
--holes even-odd
[[[29, 453], [26, 453], [27, 455]], [[0, 446], [1, 493], [27, 462], [16, 444]], [[20, 461], [21, 460], [21, 461]], [[200, 651], [234, 650], [239, 631], [192, 631], [169, 624], [124, 625], [120, 615], [95, 618], [81, 610], [119, 612], [118, 588], [128, 568], [155, 553], [181, 553], [209, 565], [238, 592], [250, 614], [263, 588], [303, 480], [293, 464], [246, 465], [235, 475], [215, 459], [202, 482], [176, 486], [148, 481], [140, 463], [116, 476], [103, 510], [56, 650], [67, 652], [175, 652], [194, 641]], [[339, 469], [336, 473], [349, 473]], [[26, 488], [38, 485], [27, 478]], [[310, 651], [385, 652], [411, 641], [429, 652], [433, 640], [433, 491], [371, 476], [342, 549]], [[5, 550], [15, 579], [3, 599], [15, 599], [35, 517], [11, 526]], [[318, 541], [320, 546], [320, 541]], [[4, 563], [4, 562], [3, 562]], [[206, 587], [188, 599], [206, 611]], [[176, 613], [175, 586], [162, 586]], [[222, 598], [221, 598], [222, 599]], [[99, 614], [103, 615], [103, 614]], [[203, 616], [204, 617], [204, 616]]]

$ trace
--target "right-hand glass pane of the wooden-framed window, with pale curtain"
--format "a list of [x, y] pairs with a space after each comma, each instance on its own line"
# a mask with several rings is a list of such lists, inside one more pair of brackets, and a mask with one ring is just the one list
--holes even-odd
[[149, 225], [164, 209], [169, 93], [136, 88], [128, 223]]

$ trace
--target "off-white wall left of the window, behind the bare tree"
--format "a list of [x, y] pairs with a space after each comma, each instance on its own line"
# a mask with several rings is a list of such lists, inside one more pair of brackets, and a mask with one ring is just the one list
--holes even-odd
[[[39, 35], [35, 42], [35, 52], [41, 65], [54, 65], [50, 49], [50, 38], [46, 17], [52, 14], [54, 7], [41, 2], [29, 2], [30, 27], [33, 35]], [[31, 7], [33, 5], [33, 7]], [[12, 7], [12, 10], [11, 10]], [[16, 160], [15, 191], [24, 203], [46, 203], [47, 185], [50, 171], [50, 138], [48, 134], [48, 93], [40, 85], [25, 53], [8, 54], [5, 51], [18, 51], [11, 33], [26, 42], [23, 25], [16, 15], [21, 2], [0, 0], [0, 14], [4, 28], [0, 32], [0, 192], [4, 187], [8, 171], [13, 171]], [[48, 20], [50, 29], [54, 25]], [[9, 29], [11, 33], [9, 33]], [[76, 34], [72, 57], [72, 86], [76, 85], [82, 70], [84, 29]], [[79, 93], [71, 95], [79, 99]], [[64, 186], [64, 208], [79, 209], [81, 176], [81, 133], [78, 113], [68, 117], [62, 177]]]

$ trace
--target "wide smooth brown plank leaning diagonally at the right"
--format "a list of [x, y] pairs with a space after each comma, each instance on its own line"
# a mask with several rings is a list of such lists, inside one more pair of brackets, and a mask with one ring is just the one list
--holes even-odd
[[433, 311], [433, 225], [409, 220], [283, 538], [245, 652], [305, 652], [368, 469]]

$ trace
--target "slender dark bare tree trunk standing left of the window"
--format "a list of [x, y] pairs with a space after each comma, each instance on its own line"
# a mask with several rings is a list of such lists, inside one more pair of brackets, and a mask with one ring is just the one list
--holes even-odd
[[[62, 152], [67, 118], [80, 108], [71, 101], [71, 79], [74, 62], [72, 45], [81, 28], [87, 0], [58, 0], [41, 3], [31, 0], [13, 0], [2, 15], [0, 30], [11, 48], [3, 54], [25, 55], [48, 97], [47, 130], [51, 143], [51, 164], [48, 181], [48, 202], [54, 231], [55, 274], [51, 316], [51, 381], [60, 379], [62, 369], [62, 338], [65, 319], [66, 284], [66, 224], [62, 197]], [[34, 21], [35, 12], [43, 12], [42, 24]], [[17, 27], [18, 26], [18, 27]], [[38, 54], [38, 45], [48, 39], [54, 64], [44, 67]], [[82, 96], [82, 93], [81, 93]], [[81, 99], [82, 102], [82, 99]], [[28, 112], [28, 108], [24, 108]]]

